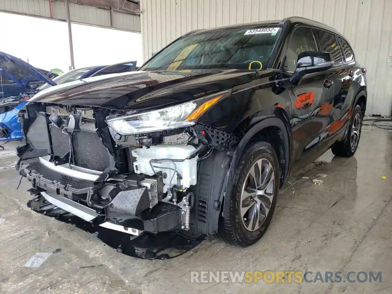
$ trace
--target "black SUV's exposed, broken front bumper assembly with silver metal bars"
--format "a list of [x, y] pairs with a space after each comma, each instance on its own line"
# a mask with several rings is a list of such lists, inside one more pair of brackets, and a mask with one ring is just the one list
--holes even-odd
[[[110, 177], [105, 172], [69, 169], [47, 157], [20, 160], [16, 165], [31, 181], [33, 195], [94, 225], [134, 236], [180, 229], [181, 208], [158, 201], [157, 181], [133, 173]], [[105, 201], [94, 202], [91, 196], [97, 189], [105, 191]], [[151, 207], [151, 203], [155, 204]]]

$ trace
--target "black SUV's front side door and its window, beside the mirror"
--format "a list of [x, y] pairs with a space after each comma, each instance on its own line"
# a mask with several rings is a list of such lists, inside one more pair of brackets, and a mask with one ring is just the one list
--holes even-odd
[[[310, 27], [294, 28], [283, 59], [283, 71], [296, 69], [298, 54], [320, 51]], [[330, 73], [307, 74], [291, 89], [292, 96], [292, 169], [300, 169], [325, 152], [332, 122], [333, 83]]]

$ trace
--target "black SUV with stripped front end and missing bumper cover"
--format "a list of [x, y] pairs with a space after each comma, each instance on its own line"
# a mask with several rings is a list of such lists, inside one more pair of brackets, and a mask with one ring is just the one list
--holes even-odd
[[136, 72], [36, 94], [16, 168], [37, 211], [248, 246], [290, 173], [356, 152], [365, 73], [339, 32], [305, 18], [192, 31]]

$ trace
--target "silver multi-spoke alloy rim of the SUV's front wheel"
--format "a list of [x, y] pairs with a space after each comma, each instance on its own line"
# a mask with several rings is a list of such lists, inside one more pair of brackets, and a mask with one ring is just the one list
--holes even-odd
[[267, 219], [274, 198], [274, 168], [262, 158], [252, 165], [242, 187], [240, 216], [249, 231], [255, 231]]

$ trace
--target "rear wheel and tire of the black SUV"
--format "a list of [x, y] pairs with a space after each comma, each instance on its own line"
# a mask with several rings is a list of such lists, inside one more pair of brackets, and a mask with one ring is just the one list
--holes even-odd
[[[361, 138], [362, 123], [363, 113], [361, 106], [355, 105], [346, 137], [342, 141], [333, 143], [331, 146], [334, 155], [340, 157], [351, 157], [354, 155], [358, 149], [359, 139]], [[354, 137], [356, 137], [355, 140]]]

